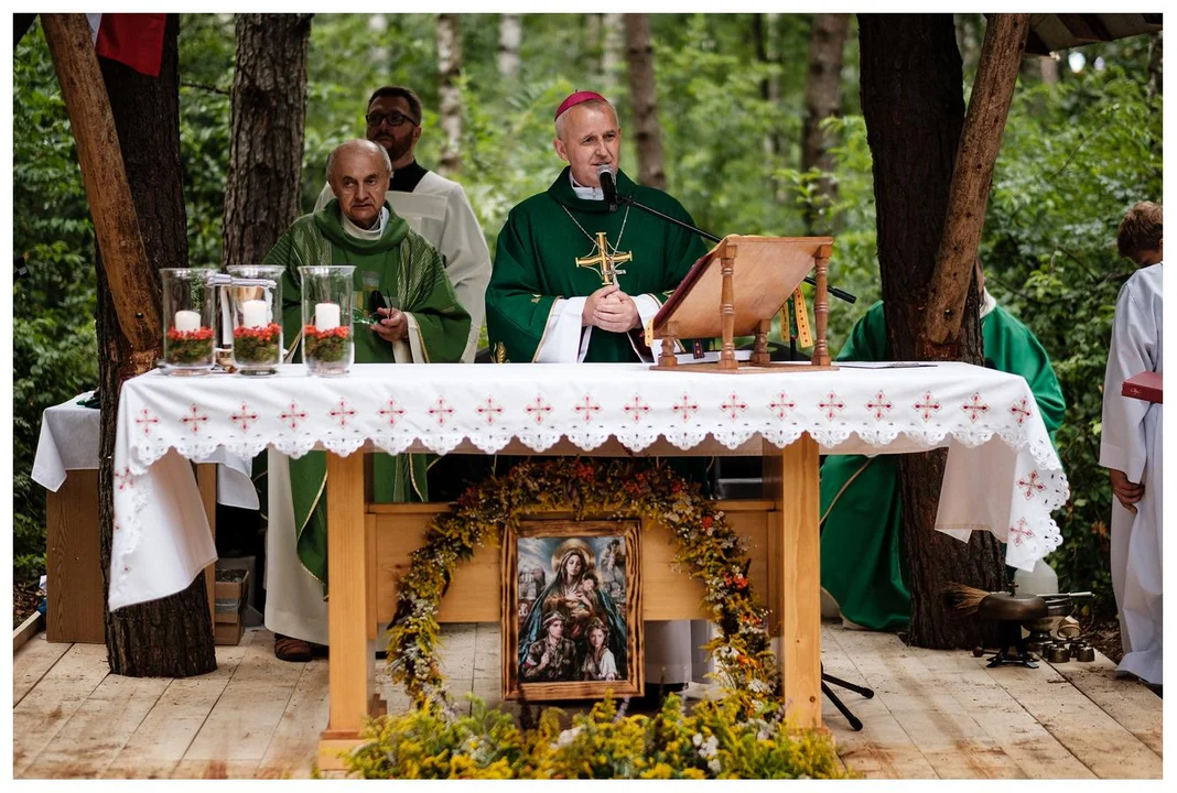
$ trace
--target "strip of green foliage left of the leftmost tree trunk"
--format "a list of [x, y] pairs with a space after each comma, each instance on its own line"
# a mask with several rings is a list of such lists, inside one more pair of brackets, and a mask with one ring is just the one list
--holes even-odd
[[29, 478], [41, 413], [93, 388], [93, 228], [40, 25], [13, 54], [13, 577], [45, 569], [45, 492]]

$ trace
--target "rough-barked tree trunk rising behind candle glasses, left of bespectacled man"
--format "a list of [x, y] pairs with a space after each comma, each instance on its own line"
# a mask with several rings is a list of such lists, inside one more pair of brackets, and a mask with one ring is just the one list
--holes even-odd
[[255, 265], [298, 218], [312, 14], [238, 14], [221, 262]]

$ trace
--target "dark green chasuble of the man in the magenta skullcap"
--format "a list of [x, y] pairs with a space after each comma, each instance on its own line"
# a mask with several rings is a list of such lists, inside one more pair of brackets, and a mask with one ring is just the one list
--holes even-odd
[[[636, 185], [624, 172], [617, 174], [617, 189], [694, 225], [683, 205], [661, 191]], [[601, 287], [599, 271], [578, 267], [576, 261], [598, 253], [593, 241], [598, 232], [605, 232], [611, 251], [633, 256], [618, 265], [625, 271], [617, 278], [621, 291], [632, 296], [649, 294], [658, 305], [706, 253], [697, 234], [641, 209], [623, 206], [609, 212], [604, 201], [577, 198], [565, 168], [547, 192], [514, 207], [499, 233], [486, 288], [486, 331], [499, 360], [533, 362], [556, 301], [584, 298]], [[640, 328], [631, 333], [641, 338]], [[593, 328], [585, 361], [637, 360], [630, 334]]]

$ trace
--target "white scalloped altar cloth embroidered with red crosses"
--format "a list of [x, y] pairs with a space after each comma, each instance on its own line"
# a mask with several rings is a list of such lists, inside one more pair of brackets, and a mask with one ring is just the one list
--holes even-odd
[[965, 364], [730, 375], [641, 364], [372, 364], [343, 378], [302, 366], [266, 379], [151, 372], [124, 384], [120, 399], [111, 608], [174, 594], [215, 558], [194, 492], [159, 486], [180, 457], [224, 448], [251, 458], [267, 446], [347, 455], [368, 442], [445, 454], [465, 440], [487, 454], [514, 440], [543, 453], [565, 439], [591, 451], [610, 437], [633, 452], [659, 438], [690, 449], [707, 435], [736, 449], [757, 438], [784, 447], [803, 433], [823, 453], [947, 447], [939, 531], [962, 540], [990, 531], [1022, 569], [1062, 542], [1050, 515], [1066, 501], [1066, 477], [1029, 385]]

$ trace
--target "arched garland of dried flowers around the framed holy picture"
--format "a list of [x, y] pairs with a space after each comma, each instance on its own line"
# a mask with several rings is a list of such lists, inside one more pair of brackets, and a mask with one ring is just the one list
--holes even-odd
[[390, 628], [388, 668], [419, 709], [448, 702], [437, 647], [441, 597], [457, 566], [476, 547], [498, 545], [507, 525], [525, 514], [568, 512], [638, 517], [666, 526], [678, 544], [674, 560], [703, 581], [704, 605], [719, 626], [706, 649], [717, 660], [720, 682], [744, 702], [745, 713], [763, 708], [779, 691], [767, 632], [767, 609], [752, 598], [747, 542], [727, 524], [714, 501], [665, 464], [624, 460], [587, 462], [525, 461], [506, 477], [468, 488], [450, 512], [430, 525], [425, 545], [411, 555], [400, 579], [397, 614]]

